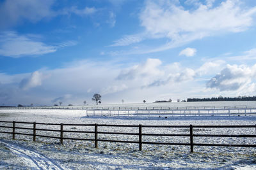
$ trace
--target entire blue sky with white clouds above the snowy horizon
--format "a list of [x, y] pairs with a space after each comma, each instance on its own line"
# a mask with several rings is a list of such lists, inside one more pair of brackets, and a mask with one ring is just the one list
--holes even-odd
[[256, 95], [254, 0], [0, 0], [0, 106]]

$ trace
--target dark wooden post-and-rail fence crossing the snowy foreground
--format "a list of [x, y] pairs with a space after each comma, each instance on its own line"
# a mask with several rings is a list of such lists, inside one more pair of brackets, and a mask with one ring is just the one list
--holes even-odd
[[[33, 136], [33, 141], [36, 141], [36, 137], [41, 138], [55, 138], [60, 139], [60, 143], [63, 144], [64, 139], [71, 139], [71, 140], [83, 140], [83, 141], [94, 141], [95, 148], [98, 148], [98, 142], [114, 142], [114, 143], [137, 143], [139, 145], [139, 150], [142, 150], [143, 144], [149, 145], [183, 145], [183, 146], [190, 146], [190, 152], [192, 153], [194, 150], [194, 146], [226, 146], [226, 147], [256, 147], [256, 145], [240, 145], [240, 144], [213, 144], [213, 143], [194, 143], [194, 137], [220, 137], [220, 138], [256, 138], [256, 135], [252, 134], [193, 134], [193, 129], [195, 128], [255, 128], [256, 134], [256, 124], [255, 125], [106, 125], [106, 124], [45, 124], [45, 123], [36, 123], [36, 122], [10, 122], [10, 121], [0, 121], [0, 123], [12, 124], [12, 126], [7, 125], [0, 125], [2, 129], [12, 129], [12, 132], [0, 131], [0, 133], [5, 134], [12, 134], [12, 139], [15, 139], [15, 134], [19, 135], [26, 135], [26, 136]], [[33, 124], [33, 128], [29, 127], [17, 127], [17, 124]], [[58, 125], [60, 126], [60, 130], [56, 129], [38, 129], [36, 125]], [[89, 126], [94, 127], [94, 131], [67, 131], [63, 130], [64, 126]], [[98, 131], [98, 127], [136, 127], [138, 128], [138, 133], [131, 133], [131, 132], [100, 132]], [[189, 130], [189, 134], [149, 134], [143, 133], [143, 128], [187, 128]], [[24, 129], [24, 130], [31, 130], [33, 134], [29, 133], [21, 133], [15, 132], [15, 129]], [[45, 136], [36, 134], [36, 131], [49, 131], [49, 132], [60, 132], [60, 137], [58, 136]], [[64, 138], [63, 133], [87, 133], [87, 134], [94, 134], [94, 139], [92, 138]], [[98, 134], [118, 134], [118, 135], [131, 135], [131, 136], [138, 136], [138, 141], [122, 141], [122, 140], [110, 140], [110, 139], [99, 139]], [[161, 142], [151, 142], [151, 141], [143, 141], [142, 136], [182, 136], [182, 137], [189, 137], [189, 143], [161, 143]]]

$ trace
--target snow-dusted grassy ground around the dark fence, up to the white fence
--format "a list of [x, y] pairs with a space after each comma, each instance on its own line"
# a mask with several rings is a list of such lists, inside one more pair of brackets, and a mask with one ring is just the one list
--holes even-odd
[[[127, 125], [255, 125], [256, 117], [168, 117], [168, 118], [93, 118], [84, 117], [83, 110], [0, 110], [0, 119], [6, 121], [70, 123], [70, 124], [127, 124]], [[18, 125], [18, 124], [17, 124]], [[28, 125], [31, 127], [31, 125]], [[45, 126], [41, 126], [46, 128]], [[38, 126], [40, 128], [40, 126]], [[51, 126], [49, 129], [58, 129]], [[93, 131], [92, 127], [65, 127], [68, 130]], [[152, 129], [143, 132], [188, 134], [189, 129]], [[138, 132], [138, 128], [99, 127], [99, 131]], [[25, 132], [25, 130], [20, 130]], [[31, 132], [31, 131], [30, 131]], [[255, 134], [248, 129], [195, 129], [197, 134]], [[48, 132], [47, 135], [59, 136]], [[72, 138], [93, 138], [93, 134], [64, 134]], [[92, 141], [36, 138], [0, 134], [0, 169], [256, 169], [256, 148], [227, 148], [195, 146], [143, 145]], [[109, 136], [100, 139], [138, 141], [137, 136]], [[189, 143], [188, 137], [146, 137], [143, 141]], [[256, 144], [255, 138], [195, 138], [195, 143]]]

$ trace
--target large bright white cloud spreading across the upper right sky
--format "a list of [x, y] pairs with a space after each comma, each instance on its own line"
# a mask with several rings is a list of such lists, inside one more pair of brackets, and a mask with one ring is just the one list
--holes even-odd
[[244, 8], [240, 1], [231, 0], [220, 3], [208, 0], [204, 4], [195, 2], [197, 4], [193, 3], [193, 10], [186, 10], [174, 1], [146, 1], [145, 8], [140, 13], [141, 26], [145, 28], [143, 36], [136, 36], [140, 33], [124, 36], [116, 40], [114, 45], [131, 45], [145, 39], [168, 39], [169, 41], [161, 46], [133, 53], [159, 52], [207, 36], [246, 31], [253, 25], [256, 6]]

